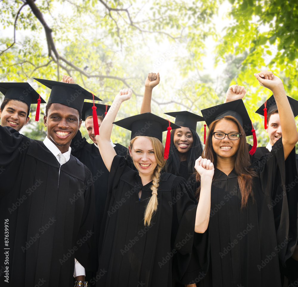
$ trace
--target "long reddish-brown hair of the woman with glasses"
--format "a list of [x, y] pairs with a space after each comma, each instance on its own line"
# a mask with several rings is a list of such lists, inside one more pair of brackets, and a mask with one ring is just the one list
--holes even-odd
[[[250, 158], [249, 158], [248, 145], [246, 143], [246, 135], [243, 127], [240, 125], [240, 123], [236, 118], [232, 116], [225, 116], [224, 118], [215, 120], [210, 124], [209, 132], [205, 143], [205, 148], [203, 151], [203, 157], [213, 162], [214, 168], [216, 168], [217, 156], [212, 146], [213, 132], [216, 124], [224, 120], [235, 122], [241, 134], [239, 138], [239, 141], [240, 141], [239, 148], [235, 157], [234, 169], [235, 169], [236, 175], [238, 175], [238, 185], [239, 185], [239, 189], [242, 197], [241, 199], [241, 209], [242, 209], [247, 206], [249, 197], [252, 197], [252, 200], [254, 200], [252, 187], [253, 187], [253, 178], [257, 176], [257, 173], [253, 169], [249, 168]], [[196, 179], [200, 180], [200, 176], [198, 173], [197, 173]], [[213, 176], [213, 179], [214, 179], [214, 176]], [[199, 189], [197, 190], [197, 193], [199, 193]]]

